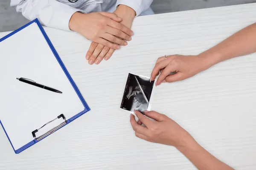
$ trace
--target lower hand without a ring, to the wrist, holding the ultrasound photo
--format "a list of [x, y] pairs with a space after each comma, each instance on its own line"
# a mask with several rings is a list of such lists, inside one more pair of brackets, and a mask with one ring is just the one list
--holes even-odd
[[[136, 122], [134, 115], [131, 114], [131, 126], [135, 131], [135, 135], [141, 139], [174, 147], [185, 147], [188, 143], [195, 142], [186, 130], [166, 115], [155, 111], [144, 111], [146, 116], [156, 120], [154, 121], [148, 119], [139, 111], [134, 111], [134, 113], [139, 118], [139, 121]], [[142, 126], [142, 123], [145, 126]]]

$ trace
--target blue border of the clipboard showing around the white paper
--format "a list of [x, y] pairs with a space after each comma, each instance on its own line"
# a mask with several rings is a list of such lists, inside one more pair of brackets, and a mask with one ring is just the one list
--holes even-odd
[[[11, 37], [12, 35], [16, 34], [16, 33], [19, 32], [20, 30], [22, 30], [22, 29], [26, 28], [27, 26], [31, 25], [32, 23], [36, 23], [36, 24], [38, 25], [39, 29], [41, 30], [42, 34], [44, 35], [45, 40], [47, 41], [47, 43], [48, 43], [48, 45], [49, 45], [49, 48], [52, 50], [52, 53], [54, 54], [55, 58], [58, 60], [58, 63], [61, 65], [62, 70], [63, 70], [64, 73], [66, 74], [66, 76], [67, 76], [67, 78], [69, 79], [71, 85], [73, 86], [74, 90], [76, 91], [76, 94], [79, 96], [79, 99], [81, 100], [82, 104], [84, 105], [84, 110], [83, 110], [83, 111], [81, 111], [80, 113], [78, 113], [78, 114], [76, 114], [75, 116], [71, 117], [70, 119], [67, 119], [67, 120], [65, 119], [65, 121], [64, 121], [65, 124], [62, 125], [61, 127], [57, 128], [57, 129], [55, 129], [54, 131], [52, 131], [52, 133], [53, 133], [53, 132], [59, 130], [60, 128], [62, 128], [62, 127], [64, 127], [64, 126], [68, 125], [70, 122], [72, 122], [73, 120], [75, 120], [75, 119], [78, 118], [79, 116], [83, 115], [83, 114], [86, 113], [87, 111], [90, 111], [90, 108], [88, 107], [88, 105], [87, 105], [87, 103], [85, 102], [83, 96], [81, 95], [79, 89], [77, 88], [75, 82], [73, 81], [73, 79], [71, 78], [71, 76], [70, 76], [70, 74], [68, 73], [67, 69], [65, 68], [63, 62], [61, 61], [61, 58], [58, 56], [57, 51], [56, 51], [55, 48], [53, 47], [51, 41], [49, 40], [49, 37], [47, 36], [46, 32], [44, 31], [44, 28], [41, 26], [41, 24], [40, 24], [40, 22], [39, 22], [38, 19], [35, 19], [35, 20], [29, 22], [29, 23], [26, 24], [25, 26], [22, 26], [21, 28], [19, 28], [19, 29], [13, 31], [12, 33], [10, 33], [10, 34], [6, 35], [5, 37], [1, 38], [1, 39], [0, 39], [0, 42], [2, 42], [3, 40], [6, 40], [7, 38], [9, 38], [9, 37]], [[60, 116], [58, 116], [58, 119], [60, 119], [60, 118], [63, 118], [63, 119], [64, 119], [65, 117], [64, 117], [63, 115], [60, 115]], [[57, 119], [57, 118], [56, 118], [56, 119]], [[0, 120], [0, 124], [1, 124], [1, 126], [3, 127], [3, 124], [2, 124], [2, 122], [1, 122], [1, 120]], [[4, 130], [4, 132], [6, 133], [6, 130], [5, 130], [4, 127], [3, 127], [3, 130]], [[41, 139], [40, 139], [40, 140], [34, 139], [34, 140], [32, 140], [31, 142], [25, 144], [23, 147], [20, 147], [20, 148], [17, 149], [17, 150], [15, 150], [15, 148], [13, 147], [12, 142], [11, 142], [11, 140], [9, 139], [9, 136], [8, 136], [7, 133], [6, 133], [6, 136], [7, 136], [7, 138], [9, 139], [9, 142], [11, 143], [12, 148], [13, 148], [13, 150], [15, 151], [15, 153], [20, 153], [20, 152], [22, 152], [23, 150], [26, 150], [27, 148], [31, 147], [32, 145], [34, 145], [34, 144], [40, 142], [42, 139], [46, 138], [47, 136], [49, 136], [49, 135], [52, 134], [52, 133], [48, 133], [48, 134], [46, 134], [46, 135], [44, 135], [44, 136], [41, 136]]]

